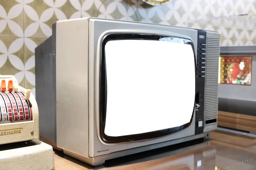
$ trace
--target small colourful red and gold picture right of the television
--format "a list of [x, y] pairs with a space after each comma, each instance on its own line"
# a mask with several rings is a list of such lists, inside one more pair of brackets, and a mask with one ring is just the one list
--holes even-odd
[[252, 57], [220, 57], [219, 83], [251, 85]]

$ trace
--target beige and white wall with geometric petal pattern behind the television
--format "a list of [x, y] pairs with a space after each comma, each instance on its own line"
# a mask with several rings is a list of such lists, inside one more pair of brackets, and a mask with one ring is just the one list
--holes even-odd
[[256, 45], [256, 18], [226, 16], [255, 12], [256, 0], [0, 0], [0, 74], [15, 75], [35, 95], [35, 47], [57, 20], [91, 16], [215, 30], [221, 45], [233, 46]]

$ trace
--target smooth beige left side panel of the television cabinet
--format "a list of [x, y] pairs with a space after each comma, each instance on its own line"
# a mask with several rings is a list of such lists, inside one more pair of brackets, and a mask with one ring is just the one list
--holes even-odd
[[57, 21], [57, 146], [88, 156], [88, 19]]

